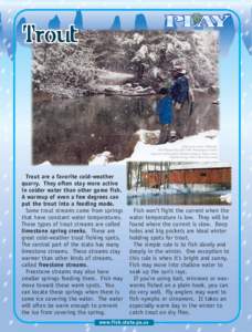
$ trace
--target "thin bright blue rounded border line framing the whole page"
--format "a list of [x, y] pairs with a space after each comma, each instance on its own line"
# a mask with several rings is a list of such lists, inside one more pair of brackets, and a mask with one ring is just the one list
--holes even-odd
[[[12, 269], [13, 269], [13, 314], [17, 318], [17, 320], [21, 323], [24, 324], [94, 324], [95, 321], [25, 321], [23, 319], [20, 319], [17, 310], [15, 310], [15, 51], [17, 51], [17, 40], [15, 40], [15, 23], [17, 23], [17, 18], [23, 13], [23, 12], [32, 12], [32, 11], [76, 11], [76, 8], [36, 8], [36, 9], [22, 9], [20, 11], [17, 12], [17, 14], [14, 15], [13, 19], [13, 35], [12, 35], [12, 42], [13, 42], [13, 199], [12, 199], [12, 204], [13, 204], [13, 262], [12, 262]], [[242, 86], [241, 86], [241, 19], [239, 17], [239, 14], [231, 9], [202, 9], [202, 8], [188, 8], [188, 9], [167, 9], [167, 8], [158, 8], [158, 9], [151, 9], [151, 8], [134, 8], [134, 9], [123, 9], [123, 8], [105, 8], [105, 9], [98, 9], [98, 8], [94, 8], [94, 9], [78, 9], [81, 11], [85, 11], [85, 12], [101, 12], [101, 11], [105, 11], [105, 12], [114, 12], [114, 11], [126, 11], [126, 12], [157, 12], [157, 11], [177, 11], [177, 12], [230, 12], [231, 14], [233, 14], [237, 19], [238, 19], [238, 37], [239, 37], [239, 163], [238, 163], [238, 167], [239, 167], [239, 307], [238, 307], [238, 313], [235, 314], [235, 317], [229, 321], [155, 321], [155, 325], [156, 324], [230, 324], [233, 323], [234, 321], [237, 321], [240, 317], [241, 313], [241, 308], [242, 308], [242, 295], [241, 295], [241, 287], [242, 287], [242, 268], [241, 268], [241, 258], [242, 258], [242, 249], [241, 249], [241, 239], [242, 239], [242, 235], [241, 235], [241, 167], [242, 167], [242, 160], [241, 160], [241, 114], [242, 114], [242, 107], [241, 107], [241, 92], [242, 92]], [[113, 325], [111, 325], [113, 326]], [[117, 326], [118, 328], [118, 326]]]

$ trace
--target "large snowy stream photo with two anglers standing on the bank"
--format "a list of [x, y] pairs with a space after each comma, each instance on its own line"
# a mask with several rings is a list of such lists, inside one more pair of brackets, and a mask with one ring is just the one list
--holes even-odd
[[217, 31], [86, 30], [77, 39], [33, 46], [34, 165], [190, 160], [196, 152], [218, 159]]

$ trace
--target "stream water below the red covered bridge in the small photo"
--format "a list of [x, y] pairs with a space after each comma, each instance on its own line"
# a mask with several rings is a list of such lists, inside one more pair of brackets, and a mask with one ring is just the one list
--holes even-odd
[[160, 194], [128, 196], [128, 205], [229, 205], [221, 194]]

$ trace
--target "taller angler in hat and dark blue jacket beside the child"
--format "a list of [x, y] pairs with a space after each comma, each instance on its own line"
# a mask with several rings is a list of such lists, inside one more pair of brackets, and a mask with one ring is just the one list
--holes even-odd
[[174, 83], [171, 96], [174, 101], [174, 124], [177, 138], [186, 134], [186, 123], [192, 113], [193, 95], [190, 90], [187, 71], [181, 66], [175, 66], [171, 71]]

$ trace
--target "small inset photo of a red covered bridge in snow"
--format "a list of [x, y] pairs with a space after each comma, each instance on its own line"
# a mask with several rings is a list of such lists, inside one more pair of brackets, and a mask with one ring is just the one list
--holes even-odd
[[231, 205], [225, 163], [127, 164], [128, 205]]

